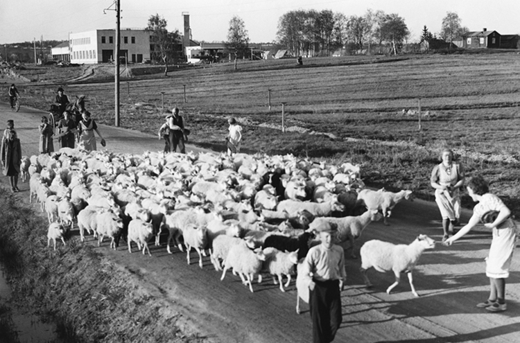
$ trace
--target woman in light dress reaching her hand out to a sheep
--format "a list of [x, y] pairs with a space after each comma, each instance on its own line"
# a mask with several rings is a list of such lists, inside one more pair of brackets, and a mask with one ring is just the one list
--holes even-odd
[[489, 193], [489, 186], [480, 175], [471, 177], [467, 185], [467, 192], [474, 202], [478, 202], [473, 209], [473, 216], [467, 225], [462, 227], [458, 233], [448, 238], [444, 245], [451, 245], [459, 238], [465, 236], [473, 229], [486, 213], [496, 211], [496, 217], [492, 222], [484, 224], [488, 229], [493, 229], [493, 238], [489, 254], [486, 258], [486, 276], [489, 277], [489, 298], [476, 306], [485, 308], [491, 312], [505, 311], [505, 279], [509, 277], [509, 269], [513, 256], [514, 243], [516, 240], [516, 227], [510, 218], [511, 212], [508, 206], [496, 195]]

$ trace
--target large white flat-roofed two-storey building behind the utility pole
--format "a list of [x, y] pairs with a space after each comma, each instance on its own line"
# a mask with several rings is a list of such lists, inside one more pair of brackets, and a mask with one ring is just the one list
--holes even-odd
[[[121, 60], [146, 62], [150, 60], [150, 33], [144, 29], [121, 29]], [[72, 63], [96, 64], [114, 60], [116, 30], [92, 30], [69, 35]]]

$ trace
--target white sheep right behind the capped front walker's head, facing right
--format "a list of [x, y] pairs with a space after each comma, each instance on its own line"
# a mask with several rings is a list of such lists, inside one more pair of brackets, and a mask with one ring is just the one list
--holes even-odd
[[347, 216], [343, 218], [315, 218], [315, 220], [311, 222], [311, 225], [309, 225], [309, 230], [318, 231], [318, 227], [324, 225], [325, 222], [336, 225], [338, 231], [336, 232], [335, 239], [338, 243], [345, 243], [347, 240], [349, 240], [350, 249], [352, 249], [351, 256], [352, 258], [356, 258], [356, 254], [354, 254], [354, 239], [361, 236], [361, 232], [371, 222], [381, 220], [382, 217], [383, 215], [381, 215], [381, 213], [379, 213], [377, 210], [369, 210], [363, 213], [361, 216], [356, 217]]

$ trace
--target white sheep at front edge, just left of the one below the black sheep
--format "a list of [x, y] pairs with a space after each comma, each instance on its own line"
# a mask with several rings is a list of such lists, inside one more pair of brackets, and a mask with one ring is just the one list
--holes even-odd
[[227, 270], [233, 268], [233, 272], [239, 274], [242, 283], [249, 285], [249, 290], [253, 292], [251, 281], [254, 279], [254, 275], [260, 272], [262, 262], [265, 260], [266, 256], [261, 250], [255, 252], [245, 243], [232, 245], [224, 261], [224, 269], [220, 281], [224, 280]]

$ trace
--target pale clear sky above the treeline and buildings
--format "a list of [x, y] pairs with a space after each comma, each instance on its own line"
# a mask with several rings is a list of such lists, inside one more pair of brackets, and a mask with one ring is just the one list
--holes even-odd
[[[114, 0], [1, 0], [0, 44], [33, 39], [66, 40], [69, 33], [115, 28]], [[190, 16], [195, 40], [226, 40], [229, 20], [238, 15], [250, 42], [277, 39], [279, 18], [291, 10], [332, 10], [364, 15], [368, 9], [397, 13], [410, 30], [410, 42], [418, 41], [424, 25], [439, 33], [447, 12], [456, 12], [462, 26], [471, 31], [496, 30], [502, 35], [520, 34], [520, 0], [121, 0], [121, 28], [144, 28], [151, 15], [159, 14], [168, 30], [182, 33], [182, 13]]]

